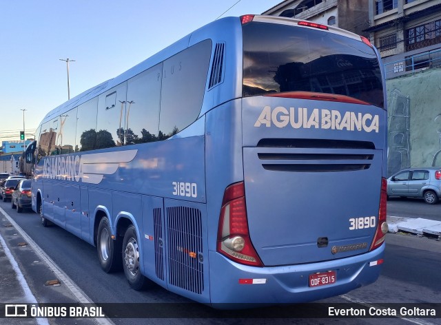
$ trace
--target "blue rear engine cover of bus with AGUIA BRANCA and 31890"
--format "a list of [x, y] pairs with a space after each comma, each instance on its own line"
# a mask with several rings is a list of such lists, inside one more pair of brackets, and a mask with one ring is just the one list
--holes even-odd
[[369, 251], [385, 125], [384, 109], [371, 105], [243, 100], [247, 216], [265, 266]]

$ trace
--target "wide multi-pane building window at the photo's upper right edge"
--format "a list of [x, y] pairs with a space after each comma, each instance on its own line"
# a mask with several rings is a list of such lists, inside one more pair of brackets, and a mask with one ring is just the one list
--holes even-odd
[[441, 43], [441, 20], [431, 21], [424, 25], [406, 30], [406, 50], [417, 50], [426, 46]]

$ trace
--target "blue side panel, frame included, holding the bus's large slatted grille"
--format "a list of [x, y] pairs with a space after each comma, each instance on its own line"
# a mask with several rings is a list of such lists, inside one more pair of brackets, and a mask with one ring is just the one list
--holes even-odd
[[209, 302], [206, 205], [164, 200], [167, 289]]

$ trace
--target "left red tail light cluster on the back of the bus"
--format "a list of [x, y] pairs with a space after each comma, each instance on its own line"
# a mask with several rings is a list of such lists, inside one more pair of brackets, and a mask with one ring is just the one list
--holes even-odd
[[225, 189], [220, 209], [217, 251], [240, 264], [263, 266], [249, 238], [243, 182]]

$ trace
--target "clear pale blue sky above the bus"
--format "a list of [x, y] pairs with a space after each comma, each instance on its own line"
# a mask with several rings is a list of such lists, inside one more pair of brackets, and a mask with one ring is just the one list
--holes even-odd
[[43, 117], [218, 18], [282, 0], [0, 0], [0, 145]]

